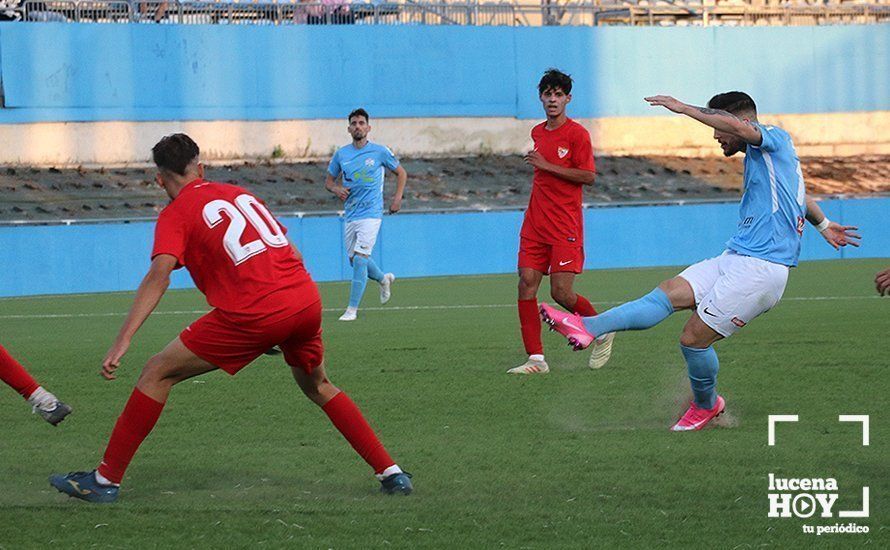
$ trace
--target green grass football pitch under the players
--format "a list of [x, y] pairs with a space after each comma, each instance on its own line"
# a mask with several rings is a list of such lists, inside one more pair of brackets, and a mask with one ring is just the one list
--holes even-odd
[[[149, 319], [116, 382], [98, 369], [130, 294], [2, 300], [3, 344], [75, 413], [53, 429], [0, 389], [0, 547], [887, 547], [890, 298], [871, 283], [884, 263], [795, 269], [773, 311], [718, 344], [727, 426], [692, 434], [667, 430], [687, 398], [677, 338], [688, 314], [620, 334], [596, 372], [545, 333], [551, 374], [510, 377], [523, 359], [515, 277], [400, 280], [392, 307], [351, 324], [333, 310], [346, 284], [322, 285], [329, 372], [414, 473], [409, 498], [378, 495], [265, 357], [176, 387], [117, 504], [59, 495], [47, 476], [95, 466], [141, 365], [203, 298], [168, 293], [159, 311], [184, 313]], [[674, 273], [587, 272], [578, 288], [613, 304]], [[435, 305], [467, 307], [424, 308]], [[768, 447], [768, 414], [801, 422]], [[838, 414], [871, 415], [871, 445]], [[870, 533], [817, 539], [801, 525], [850, 520], [767, 518], [769, 472], [836, 478], [839, 509], [858, 509], [869, 485], [871, 518], [853, 521]]]

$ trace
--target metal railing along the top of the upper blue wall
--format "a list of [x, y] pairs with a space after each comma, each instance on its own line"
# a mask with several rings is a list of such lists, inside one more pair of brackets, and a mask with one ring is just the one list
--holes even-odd
[[224, 25], [826, 25], [890, 23], [890, 3], [785, 6], [577, 2], [343, 3], [25, 0], [23, 21]]

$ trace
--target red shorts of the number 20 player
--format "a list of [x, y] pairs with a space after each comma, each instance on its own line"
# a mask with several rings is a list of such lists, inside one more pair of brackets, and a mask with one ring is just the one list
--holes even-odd
[[311, 374], [324, 358], [321, 302], [272, 323], [236, 323], [214, 309], [189, 325], [179, 339], [192, 353], [229, 374], [236, 374], [273, 346], [281, 347], [288, 365]]

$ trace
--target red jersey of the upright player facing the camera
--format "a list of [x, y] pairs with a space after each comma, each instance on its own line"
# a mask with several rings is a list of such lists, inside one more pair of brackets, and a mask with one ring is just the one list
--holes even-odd
[[[544, 160], [566, 168], [594, 170], [593, 146], [587, 130], [572, 119], [555, 130], [542, 122], [532, 128], [535, 150]], [[582, 184], [535, 168], [532, 194], [520, 235], [546, 244], [584, 245]]]

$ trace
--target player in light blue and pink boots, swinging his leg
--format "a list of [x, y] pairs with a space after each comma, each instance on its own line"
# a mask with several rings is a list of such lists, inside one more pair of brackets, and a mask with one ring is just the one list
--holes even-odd
[[745, 153], [738, 229], [723, 254], [686, 268], [638, 300], [597, 317], [567, 315], [544, 304], [541, 316], [575, 349], [583, 349], [604, 334], [647, 329], [675, 311], [694, 310], [680, 335], [694, 399], [672, 429], [700, 430], [726, 407], [717, 394], [719, 362], [713, 344], [779, 302], [788, 270], [797, 265], [804, 219], [835, 248], [859, 246], [859, 235], [855, 227], [829, 221], [806, 196], [791, 137], [781, 128], [760, 124], [748, 94], [718, 94], [707, 107], [686, 105], [669, 96], [646, 101], [713, 128], [725, 156]]

